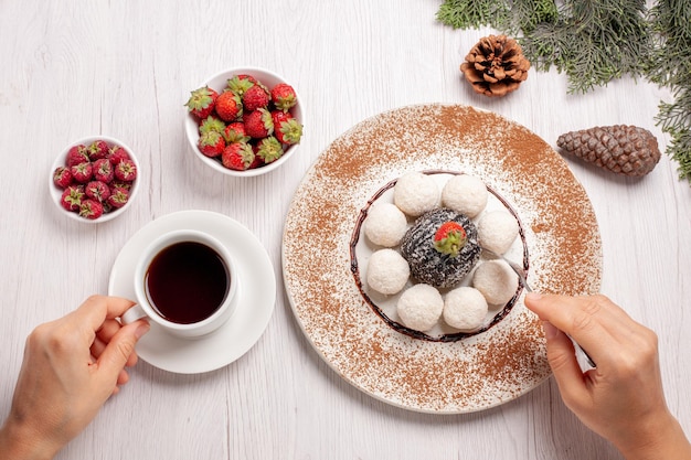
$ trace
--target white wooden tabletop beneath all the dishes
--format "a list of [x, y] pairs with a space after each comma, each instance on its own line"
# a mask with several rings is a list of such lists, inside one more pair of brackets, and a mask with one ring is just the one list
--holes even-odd
[[[500, 99], [472, 93], [458, 66], [491, 30], [435, 21], [440, 1], [0, 2], [0, 414], [8, 413], [25, 335], [106, 293], [110, 267], [140, 227], [211, 210], [266, 247], [277, 302], [258, 343], [201, 375], [145, 362], [59, 459], [605, 459], [618, 453], [564, 407], [550, 381], [503, 406], [434, 416], [381, 403], [342, 381], [302, 335], [280, 272], [283, 222], [305, 172], [336, 137], [378, 113], [469, 104], [552, 146], [560, 133], [629, 124], [669, 141], [653, 117], [665, 90], [628, 78], [584, 96], [555, 72]], [[183, 104], [210, 75], [273, 69], [307, 113], [299, 154], [254, 179], [193, 158]], [[142, 191], [126, 216], [83, 225], [57, 214], [46, 175], [74, 139], [104, 133], [139, 154]], [[667, 156], [642, 180], [570, 161], [603, 239], [602, 290], [660, 335], [668, 403], [691, 430], [691, 186]]]

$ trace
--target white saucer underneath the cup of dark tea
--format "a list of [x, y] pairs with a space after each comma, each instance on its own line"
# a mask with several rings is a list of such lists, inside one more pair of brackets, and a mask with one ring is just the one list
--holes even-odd
[[259, 240], [242, 224], [209, 211], [164, 215], [139, 229], [123, 247], [110, 271], [108, 293], [134, 299], [132, 272], [141, 250], [157, 236], [178, 228], [210, 233], [227, 245], [238, 268], [241, 285], [235, 312], [220, 329], [199, 339], [180, 339], [151, 322], [137, 354], [149, 364], [178, 374], [215, 371], [245, 354], [262, 336], [274, 312], [274, 267]]

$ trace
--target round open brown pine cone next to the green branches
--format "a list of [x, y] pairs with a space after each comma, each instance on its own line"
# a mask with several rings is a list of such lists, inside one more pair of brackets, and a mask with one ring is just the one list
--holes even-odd
[[513, 39], [489, 35], [470, 50], [460, 72], [472, 84], [472, 89], [486, 96], [503, 96], [518, 89], [528, 78], [530, 61]]

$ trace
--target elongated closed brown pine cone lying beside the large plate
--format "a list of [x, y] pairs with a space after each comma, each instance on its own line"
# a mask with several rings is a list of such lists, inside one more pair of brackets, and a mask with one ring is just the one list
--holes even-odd
[[567, 153], [625, 175], [646, 175], [660, 161], [658, 140], [636, 126], [615, 125], [562, 135], [556, 145]]

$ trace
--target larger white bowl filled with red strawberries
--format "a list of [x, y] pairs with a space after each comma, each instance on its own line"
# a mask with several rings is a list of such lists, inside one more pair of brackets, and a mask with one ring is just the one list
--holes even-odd
[[185, 133], [194, 154], [228, 175], [253, 176], [279, 168], [302, 137], [295, 88], [258, 67], [221, 72], [190, 92]]

